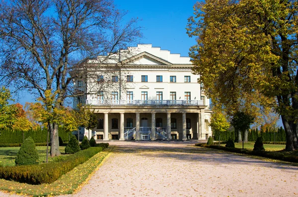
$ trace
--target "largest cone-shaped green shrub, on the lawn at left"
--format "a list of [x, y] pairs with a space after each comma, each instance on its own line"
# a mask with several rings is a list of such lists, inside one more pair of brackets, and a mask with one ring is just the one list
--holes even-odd
[[31, 137], [28, 137], [27, 139], [25, 139], [16, 155], [15, 165], [33, 164], [38, 164], [38, 153], [35, 149], [33, 139]]

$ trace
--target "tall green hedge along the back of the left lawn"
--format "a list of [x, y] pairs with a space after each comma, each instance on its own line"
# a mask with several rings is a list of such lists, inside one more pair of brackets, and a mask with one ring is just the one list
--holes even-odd
[[[58, 133], [63, 141], [69, 141], [69, 132], [66, 132], [63, 128], [59, 127]], [[0, 136], [0, 143], [23, 143], [22, 131], [0, 130]], [[34, 140], [34, 142], [47, 142], [48, 130], [46, 127], [38, 127], [35, 130], [24, 132], [25, 139], [29, 136]]]

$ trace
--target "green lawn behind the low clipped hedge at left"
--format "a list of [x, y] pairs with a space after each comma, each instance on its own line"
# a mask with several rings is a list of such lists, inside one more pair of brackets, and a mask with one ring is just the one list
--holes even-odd
[[[16, 157], [16, 154], [18, 153], [18, 150], [20, 147], [0, 147], [0, 165], [2, 166], [14, 166], [14, 160]], [[36, 146], [36, 149], [39, 154], [39, 162], [46, 162], [46, 152], [47, 152], [47, 146]], [[60, 146], [60, 152], [64, 153], [65, 146]], [[50, 147], [49, 147], [50, 152]], [[67, 155], [62, 154], [60, 157], [65, 157]], [[57, 158], [57, 157], [56, 157]], [[53, 161], [56, 158], [52, 158], [49, 154], [49, 161]]]

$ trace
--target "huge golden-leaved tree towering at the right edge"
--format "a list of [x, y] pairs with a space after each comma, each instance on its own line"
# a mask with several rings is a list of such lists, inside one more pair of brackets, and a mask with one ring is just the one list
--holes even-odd
[[197, 44], [190, 57], [206, 93], [231, 116], [274, 108], [286, 150], [297, 149], [298, 1], [206, 0], [194, 10], [187, 31]]

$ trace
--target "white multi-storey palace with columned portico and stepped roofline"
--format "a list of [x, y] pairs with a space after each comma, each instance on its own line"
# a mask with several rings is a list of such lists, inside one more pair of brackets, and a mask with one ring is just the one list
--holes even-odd
[[[107, 55], [109, 56], [109, 55]], [[189, 57], [139, 44], [84, 62], [90, 75], [74, 88], [98, 114], [97, 127], [81, 128], [80, 138], [156, 140], [207, 139], [210, 101]], [[91, 80], [93, 79], [93, 80]]]

